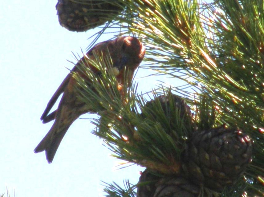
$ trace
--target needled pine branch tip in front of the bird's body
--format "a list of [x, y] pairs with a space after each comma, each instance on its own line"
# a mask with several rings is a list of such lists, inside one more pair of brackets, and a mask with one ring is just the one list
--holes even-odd
[[[121, 95], [114, 73], [106, 72], [104, 69], [111, 68], [111, 59], [96, 54], [94, 56], [95, 61], [87, 59], [86, 65], [88, 63], [99, 69], [100, 77], [90, 68], [85, 67], [85, 64], [79, 69], [90, 79], [90, 82], [74, 74], [79, 82], [80, 99], [88, 103], [93, 102], [93, 111], [101, 116], [99, 120], [93, 121], [98, 126], [94, 133], [104, 138], [115, 156], [122, 160], [163, 169], [164, 173], [171, 171], [177, 173], [184, 144], [175, 144], [173, 138], [181, 139], [184, 136], [188, 138], [189, 135], [189, 129], [183, 126], [185, 120], [180, 117], [180, 111], [172, 110], [176, 112], [173, 121], [177, 122], [173, 130], [170, 128], [170, 118], [164, 114], [160, 103], [152, 106], [155, 111], [142, 116], [139, 109], [146, 105], [146, 101], [143, 97], [135, 95], [136, 85], [129, 87], [126, 82], [124, 95]], [[173, 102], [170, 101], [171, 104]], [[153, 119], [151, 114], [159, 114], [162, 118]], [[173, 134], [169, 135], [167, 130], [171, 130]]]

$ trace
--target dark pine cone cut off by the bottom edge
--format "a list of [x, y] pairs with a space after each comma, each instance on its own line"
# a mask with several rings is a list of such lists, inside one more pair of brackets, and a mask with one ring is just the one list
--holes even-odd
[[[198, 197], [201, 188], [181, 176], [160, 177], [146, 169], [140, 176], [137, 197]], [[205, 193], [205, 192], [204, 192]], [[202, 195], [201, 195], [202, 196]], [[205, 193], [204, 197], [212, 196]]]

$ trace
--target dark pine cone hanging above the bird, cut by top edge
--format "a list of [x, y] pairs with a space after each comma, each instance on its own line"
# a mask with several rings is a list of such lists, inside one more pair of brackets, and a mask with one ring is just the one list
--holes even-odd
[[58, 0], [59, 24], [70, 31], [87, 31], [107, 22], [122, 7], [119, 0]]

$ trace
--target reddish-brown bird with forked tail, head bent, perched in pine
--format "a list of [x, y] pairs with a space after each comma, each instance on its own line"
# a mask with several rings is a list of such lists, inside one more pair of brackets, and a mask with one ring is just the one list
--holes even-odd
[[[128, 81], [128, 84], [131, 83], [134, 71], [144, 58], [145, 47], [136, 37], [121, 36], [96, 44], [76, 63], [49, 100], [40, 118], [44, 124], [55, 120], [49, 132], [34, 150], [35, 153], [45, 151], [48, 163], [53, 161], [59, 144], [71, 124], [85, 113], [96, 113], [92, 110], [93, 103], [84, 103], [77, 97], [76, 86], [78, 84], [72, 74], [79, 73], [81, 77], [84, 77], [84, 80], [89, 81], [90, 79], [87, 76], [83, 76], [82, 71], [78, 69], [79, 65], [83, 63], [90, 68], [91, 72], [100, 77], [100, 70], [87, 61], [87, 59], [94, 60], [97, 53], [101, 53], [103, 56], [106, 54], [110, 55], [112, 68], [119, 71], [115, 75], [116, 81], [119, 85], [123, 85], [125, 81]], [[129, 74], [124, 75], [124, 70], [128, 71]], [[125, 76], [128, 78], [125, 78]], [[90, 88], [93, 89], [92, 87]], [[93, 89], [93, 91], [95, 90]], [[61, 94], [63, 95], [59, 101], [58, 108], [50, 113], [51, 108]]]

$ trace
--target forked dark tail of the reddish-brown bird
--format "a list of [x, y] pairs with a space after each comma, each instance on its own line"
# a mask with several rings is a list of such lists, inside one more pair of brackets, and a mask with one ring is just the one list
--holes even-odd
[[71, 124], [58, 125], [57, 121], [55, 120], [51, 129], [49, 130], [47, 135], [41, 140], [41, 142], [37, 145], [34, 152], [38, 153], [45, 151], [47, 161], [48, 163], [51, 163], [57, 152], [57, 149], [59, 148], [59, 144], [61, 143], [65, 133], [67, 132]]

